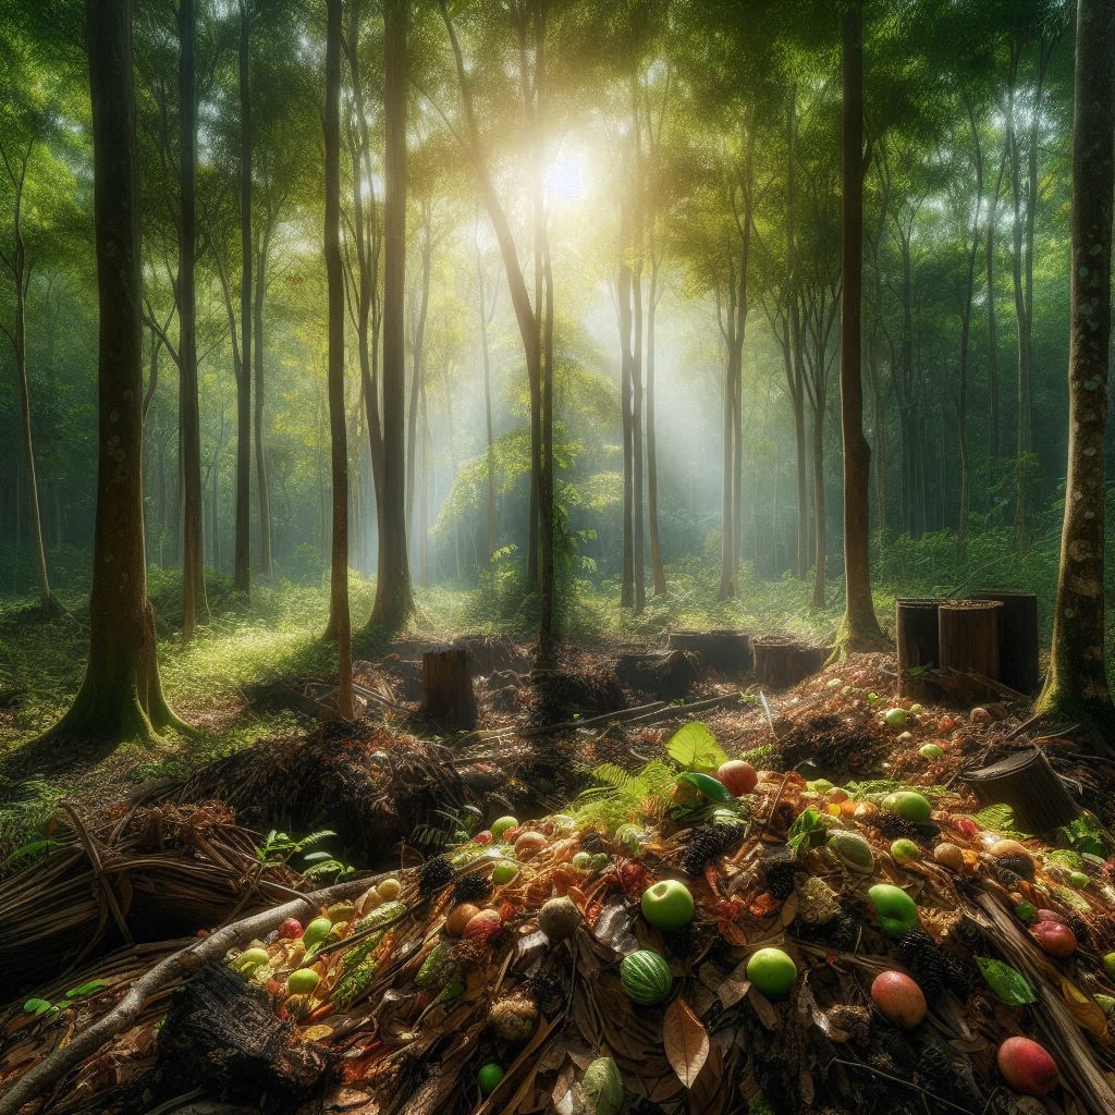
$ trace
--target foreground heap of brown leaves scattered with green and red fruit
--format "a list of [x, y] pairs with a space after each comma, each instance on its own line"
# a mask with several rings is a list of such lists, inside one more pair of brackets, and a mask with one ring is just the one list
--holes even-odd
[[[946, 737], [832, 680], [811, 685], [867, 705], [900, 752], [941, 743], [902, 778], [836, 786], [686, 725], [566, 813], [492, 808], [242, 941], [30, 1109], [145, 1112], [203, 1080], [264, 1112], [1115, 1111], [1104, 831], [1015, 831], [931, 784], [970, 719]], [[108, 970], [11, 1012], [4, 1085], [137, 975]]]

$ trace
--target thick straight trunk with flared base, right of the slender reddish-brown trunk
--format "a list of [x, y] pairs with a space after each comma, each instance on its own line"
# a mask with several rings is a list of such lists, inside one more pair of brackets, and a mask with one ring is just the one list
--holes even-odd
[[407, 23], [409, 0], [384, 8], [384, 493], [371, 623], [398, 630], [414, 611], [407, 554], [406, 342]]

